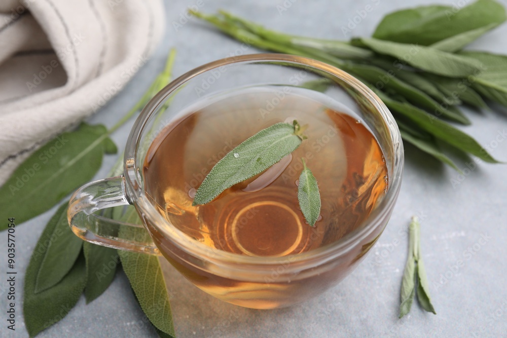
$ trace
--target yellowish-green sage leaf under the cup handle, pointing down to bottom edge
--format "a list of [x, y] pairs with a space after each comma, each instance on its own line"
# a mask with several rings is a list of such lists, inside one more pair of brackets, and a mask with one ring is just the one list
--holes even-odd
[[[132, 206], [127, 208], [121, 220], [127, 223], [141, 224], [139, 216]], [[122, 228], [120, 237], [130, 237], [132, 234], [128, 233], [135, 232], [139, 238], [141, 234], [136, 229], [138, 228]], [[145, 238], [141, 240], [149, 240], [146, 230], [143, 230], [142, 235]], [[156, 328], [175, 336], [169, 295], [158, 257], [126, 250], [118, 250], [118, 254], [123, 270], [144, 314]]]

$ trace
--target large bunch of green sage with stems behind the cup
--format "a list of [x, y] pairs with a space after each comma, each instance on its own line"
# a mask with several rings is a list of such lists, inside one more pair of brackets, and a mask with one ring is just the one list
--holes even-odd
[[402, 131], [405, 142], [454, 169], [458, 165], [440, 148], [441, 142], [451, 152], [455, 148], [498, 163], [475, 139], [445, 121], [470, 124], [460, 104], [485, 108], [490, 100], [507, 106], [507, 56], [461, 52], [507, 20], [494, 0], [460, 9], [397, 11], [382, 20], [372, 38], [350, 42], [285, 34], [225, 11], [191, 14], [251, 46], [313, 58], [351, 73], [375, 89], [396, 121], [410, 122], [410, 133]]

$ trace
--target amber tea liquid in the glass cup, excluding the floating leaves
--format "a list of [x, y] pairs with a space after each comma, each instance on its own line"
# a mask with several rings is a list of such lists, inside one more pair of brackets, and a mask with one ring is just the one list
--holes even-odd
[[[364, 225], [388, 184], [376, 138], [353, 111], [323, 94], [295, 87], [280, 93], [279, 87], [256, 87], [199, 101], [155, 138], [144, 161], [145, 190], [174, 227], [217, 250], [280, 257], [334, 243]], [[212, 202], [192, 206], [206, 174], [236, 145], [275, 123], [294, 120], [308, 125], [307, 139], [296, 151]], [[302, 158], [320, 190], [314, 228], [298, 204]], [[266, 276], [264, 283], [253, 283], [204, 273], [191, 262], [175, 261], [170, 252], [178, 248], [150, 230], [164, 256], [198, 287], [226, 300], [228, 293], [236, 299], [245, 293], [235, 304], [275, 308], [279, 299], [266, 300], [272, 288], [293, 288], [297, 297], [303, 285], [297, 278], [278, 283]], [[262, 296], [256, 299], [252, 292]]]

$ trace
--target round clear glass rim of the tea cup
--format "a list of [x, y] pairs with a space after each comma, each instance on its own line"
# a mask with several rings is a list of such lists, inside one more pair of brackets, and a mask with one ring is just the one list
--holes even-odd
[[[318, 70], [319, 73], [325, 73], [328, 78], [337, 78], [341, 82], [344, 82], [352, 87], [364, 98], [366, 98], [372, 104], [372, 106], [375, 107], [377, 112], [382, 117], [383, 123], [390, 131], [389, 136], [392, 141], [394, 159], [392, 160], [392, 168], [388, 167], [389, 184], [387, 192], [383, 199], [376, 206], [376, 208], [365, 220], [365, 226], [354, 232], [351, 232], [345, 236], [346, 238], [342, 238], [334, 243], [330, 243], [307, 252], [285, 256], [260, 257], [227, 252], [200, 243], [176, 229], [156, 210], [155, 206], [150, 202], [150, 199], [144, 193], [143, 187], [141, 186], [142, 184], [140, 184], [137, 177], [139, 174], [137, 169], [142, 167], [142, 163], [136, 163], [135, 159], [137, 157], [137, 146], [139, 140], [144, 131], [144, 127], [146, 126], [146, 122], [151, 117], [151, 115], [154, 114], [161, 107], [161, 105], [166, 102], [166, 99], [172, 93], [174, 93], [175, 90], [199, 74], [222, 66], [252, 62], [270, 62], [273, 64], [287, 62], [288, 64], [292, 63], [294, 65], [297, 64], [304, 66], [305, 69], [311, 68]], [[207, 257], [209, 261], [213, 261], [214, 264], [218, 265], [221, 265], [221, 262], [229, 262], [234, 264], [253, 266], [271, 266], [279, 265], [280, 261], [287, 260], [291, 263], [318, 260], [319, 264], [321, 264], [322, 260], [328, 261], [340, 255], [346, 254], [349, 250], [354, 248], [357, 243], [363, 241], [365, 238], [368, 238], [369, 235], [377, 228], [378, 224], [381, 223], [383, 219], [385, 219], [386, 215], [389, 212], [391, 212], [391, 208], [393, 207], [393, 204], [395, 203], [397, 195], [400, 191], [403, 166], [403, 143], [400, 131], [397, 128], [396, 122], [388, 108], [380, 100], [380, 98], [370, 88], [368, 88], [368, 86], [352, 77], [349, 73], [327, 63], [302, 56], [276, 53], [246, 54], [227, 57], [201, 65], [171, 81], [167, 86], [160, 90], [141, 110], [140, 115], [138, 116], [137, 120], [134, 123], [134, 126], [131, 129], [126, 143], [124, 155], [125, 185], [127, 195], [131, 201], [141, 211], [143, 211], [144, 214], [147, 215], [151, 223], [163, 234], [163, 236], [170, 238], [173, 244], [177, 244], [177, 247], [179, 249], [187, 251], [192, 255]], [[129, 168], [134, 168], [134, 170], [129, 171]], [[142, 172], [142, 170], [140, 171]], [[162, 224], [164, 227], [161, 226]]]

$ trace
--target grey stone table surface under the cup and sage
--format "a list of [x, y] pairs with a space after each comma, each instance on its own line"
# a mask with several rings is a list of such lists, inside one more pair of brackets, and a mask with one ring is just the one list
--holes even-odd
[[[503, 4], [506, 0], [502, 0]], [[167, 51], [177, 48], [177, 76], [206, 62], [234, 53], [240, 44], [195, 19], [182, 19], [187, 6], [201, 5], [212, 13], [227, 9], [274, 29], [346, 40], [341, 27], [355, 20], [351, 34], [370, 36], [388, 12], [431, 0], [342, 1], [170, 1], [166, 2], [166, 35], [156, 54], [127, 87], [91, 123], [112, 126], [136, 102], [162, 69]], [[439, 0], [463, 6], [468, 0]], [[360, 13], [366, 6], [365, 18]], [[182, 20], [182, 26], [174, 22]], [[175, 26], [177, 26], [175, 28]], [[470, 48], [507, 54], [507, 25], [486, 34]], [[248, 49], [246, 53], [257, 53]], [[466, 110], [466, 109], [465, 109]], [[466, 110], [473, 125], [465, 127], [494, 157], [507, 160], [507, 109]], [[117, 131], [119, 145], [133, 121]], [[108, 156], [96, 178], [103, 178], [116, 161]], [[462, 169], [465, 169], [463, 167]], [[342, 283], [312, 301], [281, 310], [251, 310], [214, 299], [164, 264], [166, 282], [178, 337], [377, 337], [377, 336], [507, 336], [507, 169], [505, 165], [479, 163], [464, 176], [406, 146], [406, 165], [399, 200], [391, 220], [365, 261]], [[456, 183], [456, 180], [458, 183]], [[454, 184], [453, 184], [454, 182]], [[24, 270], [51, 211], [16, 228], [18, 296]], [[412, 215], [422, 218], [423, 258], [438, 315], [413, 306], [399, 320], [399, 291], [407, 256], [405, 229]], [[6, 232], [0, 234], [7, 243]], [[457, 262], [463, 264], [458, 267]], [[2, 265], [4, 270], [5, 265]], [[5, 276], [5, 271], [3, 271]], [[7, 309], [6, 282], [0, 282], [2, 318]], [[21, 294], [22, 301], [22, 294]], [[18, 302], [19, 303], [19, 302]], [[21, 304], [17, 306], [16, 331], [2, 320], [0, 336], [27, 336]], [[128, 280], [118, 273], [110, 288], [89, 305], [84, 297], [59, 323], [40, 337], [156, 336], [143, 320]]]

